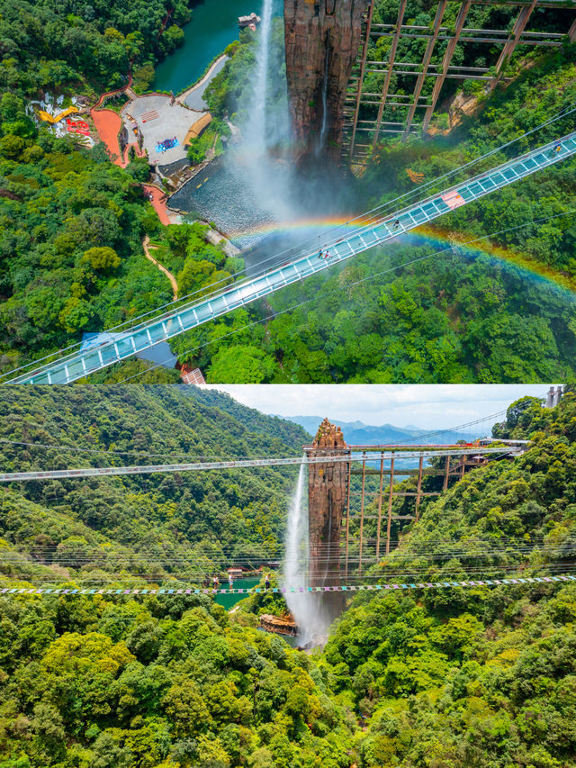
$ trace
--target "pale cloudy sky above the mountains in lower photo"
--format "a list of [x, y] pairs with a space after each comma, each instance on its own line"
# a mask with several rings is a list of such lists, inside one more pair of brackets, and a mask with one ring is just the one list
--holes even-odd
[[[328, 416], [380, 426], [439, 429], [506, 411], [551, 384], [208, 384], [238, 402], [276, 416]], [[554, 385], [555, 386], [555, 385]], [[503, 415], [486, 420], [486, 426]]]

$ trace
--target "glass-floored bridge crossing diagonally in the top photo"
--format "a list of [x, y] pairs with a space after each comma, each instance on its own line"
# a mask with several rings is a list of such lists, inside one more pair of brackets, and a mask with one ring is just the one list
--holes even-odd
[[[508, 186], [518, 179], [576, 154], [576, 131], [543, 145], [480, 176], [458, 184], [426, 200], [394, 212], [380, 221], [358, 227], [354, 232], [325, 242], [322, 250], [329, 251], [329, 259], [318, 258], [314, 249], [295, 258], [282, 267], [275, 267], [265, 275], [238, 283], [217, 294], [205, 296], [195, 302], [183, 303], [170, 312], [142, 322], [103, 342], [96, 348], [80, 349], [65, 357], [38, 367], [29, 373], [14, 376], [10, 384], [69, 384], [86, 375], [102, 370], [113, 363], [132, 357], [161, 341], [172, 339], [186, 330], [243, 307], [262, 297], [273, 294], [299, 280], [316, 275], [336, 263], [352, 258], [374, 246], [383, 245], [399, 235], [414, 230], [428, 221], [479, 200], [486, 194]], [[34, 365], [33, 363], [31, 365]]]

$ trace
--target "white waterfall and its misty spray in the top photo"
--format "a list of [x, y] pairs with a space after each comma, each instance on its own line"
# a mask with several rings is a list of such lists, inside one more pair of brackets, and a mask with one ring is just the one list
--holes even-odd
[[[254, 272], [261, 263], [270, 265], [271, 251], [278, 254], [280, 263], [282, 254], [293, 245], [301, 249], [304, 237], [308, 248], [309, 239], [318, 234], [320, 248], [323, 225], [317, 232], [312, 226], [303, 236], [297, 229], [299, 222], [324, 221], [337, 211], [354, 210], [345, 202], [347, 196], [352, 198], [349, 179], [340, 185], [337, 172], [321, 162], [330, 128], [327, 74], [319, 95], [323, 114], [316, 137], [317, 144], [320, 141], [318, 163], [306, 173], [293, 163], [297, 148], [289, 109], [281, 5], [280, 0], [261, 0], [256, 32], [242, 32], [249, 53], [244, 60], [247, 63], [253, 57], [253, 63], [248, 73], [243, 68], [244, 86], [229, 116], [232, 137], [206, 183], [186, 187], [187, 206], [206, 221], [215, 221], [239, 248], [247, 249], [247, 269]], [[327, 53], [326, 73], [328, 65]], [[273, 234], [266, 236], [266, 230]], [[260, 251], [261, 241], [266, 246]]]

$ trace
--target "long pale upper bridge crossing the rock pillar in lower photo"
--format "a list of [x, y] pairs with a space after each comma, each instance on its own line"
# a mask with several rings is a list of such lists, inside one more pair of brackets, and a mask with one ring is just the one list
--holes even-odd
[[[401, 450], [388, 448], [388, 454], [382, 454], [383, 460], [394, 458], [430, 458], [432, 456], [484, 456], [486, 454], [498, 454], [500, 456], [518, 456], [523, 452], [522, 447], [439, 447], [431, 449], [425, 447], [419, 449], [414, 446], [410, 449], [404, 447]], [[380, 459], [381, 456], [379, 455]], [[287, 458], [257, 458], [240, 459], [238, 461], [204, 461], [183, 464], [152, 464], [141, 466], [86, 466], [81, 469], [53, 469], [45, 472], [6, 472], [0, 474], [0, 483], [14, 483], [24, 480], [58, 480], [64, 478], [105, 477], [117, 474], [157, 474], [166, 472], [198, 472], [206, 469], [242, 469], [253, 466], [286, 466], [294, 464], [333, 464], [335, 462], [363, 461], [366, 455], [354, 455], [348, 453], [344, 456], [288, 456]]]

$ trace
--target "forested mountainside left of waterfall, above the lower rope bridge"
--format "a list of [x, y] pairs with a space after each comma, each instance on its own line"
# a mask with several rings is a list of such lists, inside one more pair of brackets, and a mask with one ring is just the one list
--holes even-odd
[[[0, 394], [5, 471], [300, 456], [309, 440], [294, 424], [195, 387], [34, 387]], [[260, 565], [280, 554], [296, 471], [14, 483], [0, 497], [0, 538], [58, 577], [69, 569], [96, 581], [122, 573], [202, 578], [230, 562]], [[17, 575], [21, 566], [1, 567]], [[28, 564], [26, 572], [35, 567]]]

